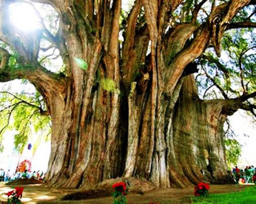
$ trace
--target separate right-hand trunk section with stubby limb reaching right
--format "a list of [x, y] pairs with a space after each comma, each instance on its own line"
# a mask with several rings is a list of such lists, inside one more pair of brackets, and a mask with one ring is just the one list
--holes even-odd
[[233, 181], [227, 173], [223, 126], [235, 110], [232, 100], [199, 99], [193, 76], [184, 80], [175, 105], [173, 140], [179, 172], [189, 181]]

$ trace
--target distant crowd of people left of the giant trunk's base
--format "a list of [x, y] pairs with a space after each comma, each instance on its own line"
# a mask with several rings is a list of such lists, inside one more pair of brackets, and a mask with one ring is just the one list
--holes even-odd
[[29, 172], [28, 170], [25, 170], [24, 172], [19, 172], [17, 171], [15, 174], [11, 174], [10, 170], [8, 170], [7, 172], [5, 172], [5, 170], [3, 170], [2, 168], [0, 169], [0, 182], [1, 181], [14, 181], [18, 178], [31, 178], [31, 177], [35, 177], [37, 179], [43, 180], [45, 173], [44, 172]]

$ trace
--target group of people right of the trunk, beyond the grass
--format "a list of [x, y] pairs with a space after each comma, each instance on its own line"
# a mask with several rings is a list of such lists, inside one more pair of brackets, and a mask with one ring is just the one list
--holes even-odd
[[239, 169], [237, 166], [232, 170], [236, 183], [256, 183], [256, 171], [254, 166]]

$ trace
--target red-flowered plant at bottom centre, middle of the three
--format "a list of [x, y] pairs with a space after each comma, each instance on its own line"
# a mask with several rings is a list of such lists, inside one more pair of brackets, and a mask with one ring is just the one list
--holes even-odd
[[127, 199], [125, 195], [128, 194], [128, 187], [130, 186], [129, 181], [117, 182], [112, 185], [114, 190], [113, 195], [113, 204], [126, 204]]

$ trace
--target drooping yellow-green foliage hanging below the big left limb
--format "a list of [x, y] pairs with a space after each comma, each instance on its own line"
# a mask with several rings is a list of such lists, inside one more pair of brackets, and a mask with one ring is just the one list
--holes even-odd
[[[40, 137], [37, 139], [38, 142], [43, 139], [48, 140], [51, 131], [50, 117], [41, 115], [41, 110], [45, 109], [39, 92], [35, 94], [0, 92], [0, 138], [3, 138], [6, 130], [15, 130], [15, 149], [20, 153], [34, 133]], [[33, 151], [38, 145], [33, 146]]]

